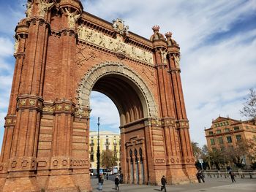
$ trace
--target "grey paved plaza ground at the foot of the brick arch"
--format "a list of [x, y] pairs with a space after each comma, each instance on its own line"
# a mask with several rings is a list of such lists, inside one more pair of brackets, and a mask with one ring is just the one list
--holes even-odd
[[[97, 179], [91, 179], [93, 191], [98, 191]], [[105, 180], [102, 191], [116, 191], [112, 180]], [[160, 186], [155, 185], [119, 185], [119, 191], [160, 191]], [[256, 191], [256, 179], [236, 178], [236, 183], [232, 183], [230, 178], [206, 177], [206, 183], [195, 183], [187, 185], [167, 185], [167, 191], [208, 191], [208, 192], [236, 192], [236, 191]]]

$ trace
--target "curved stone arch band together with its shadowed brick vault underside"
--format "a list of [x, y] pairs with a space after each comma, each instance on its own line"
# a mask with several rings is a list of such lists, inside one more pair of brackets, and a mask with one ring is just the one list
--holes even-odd
[[[105, 62], [94, 66], [84, 75], [78, 88], [80, 109], [89, 107], [92, 90], [105, 93], [113, 100], [121, 115], [121, 125], [142, 117], [157, 117], [157, 105], [151, 91], [138, 74], [132, 72], [132, 69], [124, 64]], [[131, 106], [127, 106], [127, 104], [131, 104]], [[127, 114], [124, 118], [125, 111], [131, 110], [131, 114]]]

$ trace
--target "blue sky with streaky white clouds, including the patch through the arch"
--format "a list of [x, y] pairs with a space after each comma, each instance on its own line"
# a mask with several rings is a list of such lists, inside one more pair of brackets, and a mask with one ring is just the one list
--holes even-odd
[[[129, 30], [149, 38], [151, 27], [173, 33], [181, 46], [181, 80], [191, 139], [206, 143], [204, 127], [219, 115], [241, 119], [249, 88], [256, 87], [256, 0], [86, 0], [86, 12], [108, 21], [122, 18]], [[15, 26], [24, 0], [0, 0], [0, 146], [15, 65]], [[118, 112], [100, 93], [91, 96], [91, 130], [118, 131]]]

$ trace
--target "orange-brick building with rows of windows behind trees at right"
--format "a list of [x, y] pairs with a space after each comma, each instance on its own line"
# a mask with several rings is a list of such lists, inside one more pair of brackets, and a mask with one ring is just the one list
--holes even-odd
[[256, 122], [219, 117], [212, 121], [211, 128], [205, 129], [207, 146], [210, 150], [234, 148], [239, 141], [256, 137]]

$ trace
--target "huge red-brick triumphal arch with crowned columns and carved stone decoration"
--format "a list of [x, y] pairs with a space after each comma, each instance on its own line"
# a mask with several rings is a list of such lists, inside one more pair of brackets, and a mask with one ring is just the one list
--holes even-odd
[[0, 191], [91, 191], [91, 91], [118, 108], [125, 183], [195, 182], [180, 47], [152, 29], [145, 39], [79, 0], [28, 1], [15, 28]]

